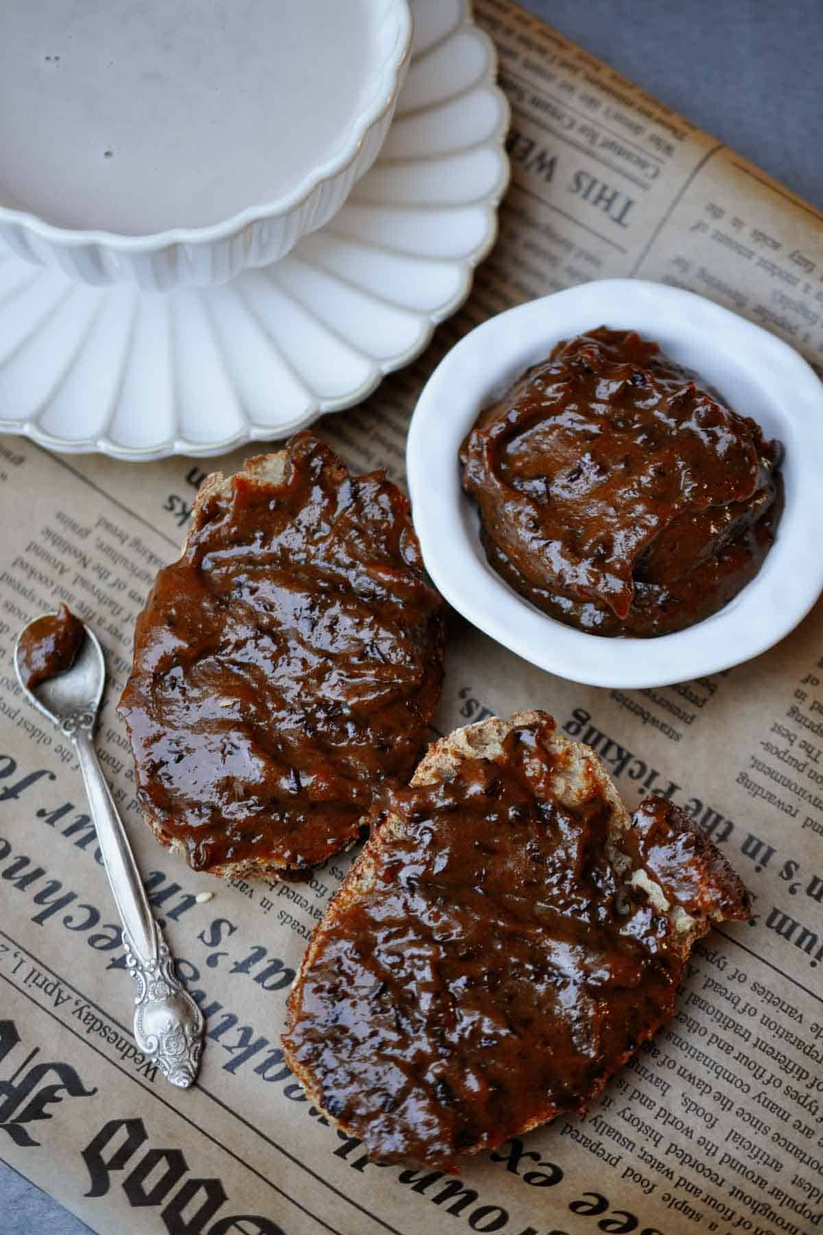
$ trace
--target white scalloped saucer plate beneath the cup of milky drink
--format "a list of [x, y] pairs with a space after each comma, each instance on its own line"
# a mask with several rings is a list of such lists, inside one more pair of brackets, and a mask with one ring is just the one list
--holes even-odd
[[222, 454], [360, 403], [465, 300], [508, 180], [508, 106], [466, 0], [411, 0], [373, 169], [274, 266], [217, 288], [93, 288], [0, 254], [0, 431], [116, 458]]

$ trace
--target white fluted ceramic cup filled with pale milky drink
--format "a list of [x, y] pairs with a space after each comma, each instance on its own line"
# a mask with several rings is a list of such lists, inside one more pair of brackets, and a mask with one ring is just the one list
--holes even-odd
[[225, 283], [374, 162], [406, 0], [5, 0], [0, 237], [84, 283]]

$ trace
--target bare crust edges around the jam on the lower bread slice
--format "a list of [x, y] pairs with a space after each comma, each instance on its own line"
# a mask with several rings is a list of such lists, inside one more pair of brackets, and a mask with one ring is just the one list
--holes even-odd
[[[464, 760], [494, 760], [496, 756], [502, 753], [503, 739], [512, 731], [512, 729], [537, 724], [539, 721], [545, 722], [545, 713], [528, 710], [515, 713], [508, 721], [501, 720], [500, 718], [491, 718], [474, 725], [468, 725], [463, 729], [457, 729], [448, 736], [439, 739], [429, 746], [427, 755], [418, 764], [410, 783], [412, 787], [418, 787], [444, 779], [452, 779], [457, 774], [460, 763]], [[550, 753], [554, 756], [550, 793], [560, 804], [573, 806], [592, 792], [601, 793], [610, 808], [610, 839], [614, 839], [618, 832], [632, 827], [632, 816], [629, 811], [623, 805], [602, 761], [590, 746], [563, 737], [558, 734], [556, 727], [554, 729], [554, 732], [547, 745]], [[670, 920], [675, 931], [672, 936], [674, 947], [679, 956], [686, 957], [693, 944], [711, 929], [713, 921], [718, 921], [724, 918], [742, 919], [748, 916], [750, 902], [745, 887], [730, 865], [717, 851], [702, 829], [692, 820], [687, 819], [682, 811], [677, 811], [676, 829], [680, 831], [689, 831], [693, 835], [696, 852], [702, 861], [707, 862], [707, 883], [711, 883], [714, 892], [722, 895], [723, 911], [716, 910], [712, 913], [700, 914], [686, 913], [682, 906], [670, 900], [669, 895], [666, 895], [658, 881], [649, 879], [647, 876], [644, 881], [637, 882], [643, 882], [650, 900], [653, 900], [658, 908], [665, 906], [665, 911], [670, 914]], [[313, 1082], [311, 1072], [304, 1067], [295, 1056], [289, 1039], [289, 1032], [292, 1030], [297, 1020], [306, 977], [312, 968], [315, 960], [318, 957], [325, 940], [329, 934], [334, 932], [337, 923], [347, 914], [349, 908], [359, 898], [368, 894], [374, 888], [381, 851], [386, 847], [386, 842], [389, 840], [396, 839], [401, 835], [402, 825], [396, 816], [387, 816], [378, 827], [373, 830], [360, 857], [349, 871], [334, 897], [329, 900], [322, 921], [315, 927], [287, 999], [287, 1030], [283, 1037], [286, 1063], [302, 1084], [308, 1099], [323, 1112], [326, 1118], [342, 1132], [355, 1137], [359, 1135], [355, 1128], [336, 1118], [323, 1107], [321, 1093]], [[610, 852], [608, 842], [607, 853], [612, 862], [619, 865], [619, 858], [616, 860], [614, 850], [612, 848]], [[638, 872], [635, 872], [635, 874], [637, 873]], [[645, 871], [640, 873], [645, 876]], [[640, 1036], [634, 1050], [645, 1039], [656, 1032], [658, 1028], [658, 1025], [653, 1025], [647, 1034]], [[627, 1051], [619, 1058], [617, 1067], [613, 1071], [622, 1067], [634, 1053], [634, 1050]], [[611, 1074], [613, 1074], [613, 1072]], [[589, 1095], [590, 1100], [598, 1097], [608, 1079], [608, 1076], [605, 1077], [602, 1083], [592, 1091]], [[547, 1104], [547, 1107], [534, 1118], [526, 1120], [518, 1128], [506, 1128], [505, 1136], [501, 1136], [501, 1141], [511, 1136], [522, 1136], [523, 1134], [532, 1131], [534, 1128], [554, 1119], [556, 1114], [559, 1114], [558, 1109]], [[489, 1145], [476, 1144], [461, 1150], [460, 1152], [461, 1155], [473, 1155], [486, 1149], [489, 1149]]]

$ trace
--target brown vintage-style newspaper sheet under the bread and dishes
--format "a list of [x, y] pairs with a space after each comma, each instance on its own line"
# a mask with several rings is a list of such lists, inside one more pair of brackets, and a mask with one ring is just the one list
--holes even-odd
[[[512, 185], [475, 290], [427, 354], [321, 436], [403, 480], [415, 399], [457, 337], [602, 275], [692, 288], [823, 361], [821, 215], [510, 0], [480, 0], [512, 104]], [[273, 391], [273, 398], [276, 391]], [[218, 466], [232, 472], [259, 447]], [[116, 701], [134, 615], [210, 463], [126, 464], [0, 441], [0, 1155], [95, 1231], [147, 1235], [809, 1235], [823, 1228], [821, 606], [727, 673], [602, 690], [457, 616], [436, 729], [545, 708], [627, 803], [677, 802], [751, 889], [698, 945], [677, 1010], [585, 1119], [459, 1177], [369, 1162], [284, 1065], [285, 998], [352, 855], [305, 883], [195, 876], [141, 820]], [[199, 1084], [137, 1052], [132, 984], [70, 746], [20, 698], [12, 640], [60, 600], [105, 645], [97, 741], [152, 903], [207, 1021]], [[196, 894], [213, 892], [207, 904]], [[2, 1219], [0, 1218], [0, 1228]]]

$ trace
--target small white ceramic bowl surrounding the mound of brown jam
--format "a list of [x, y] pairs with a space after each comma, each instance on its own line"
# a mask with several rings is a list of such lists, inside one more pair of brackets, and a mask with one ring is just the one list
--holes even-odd
[[[659, 638], [605, 638], [554, 621], [486, 562], [458, 450], [479, 411], [556, 342], [597, 326], [634, 329], [695, 369], [786, 448], [786, 506], [756, 577], [719, 613]], [[598, 687], [665, 685], [758, 656], [823, 590], [823, 385], [791, 347], [691, 291], [603, 279], [510, 309], [478, 326], [429, 378], [407, 447], [415, 526], [428, 572], [470, 622], [527, 661]]]

